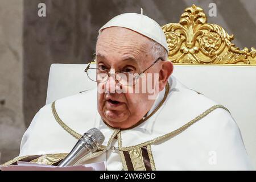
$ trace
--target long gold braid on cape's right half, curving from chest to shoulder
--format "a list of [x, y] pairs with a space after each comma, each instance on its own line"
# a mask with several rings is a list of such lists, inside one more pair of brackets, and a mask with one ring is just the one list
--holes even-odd
[[[208, 115], [209, 113], [211, 113], [213, 110], [218, 109], [218, 108], [222, 108], [225, 109], [226, 111], [229, 112], [228, 109], [226, 109], [226, 107], [222, 106], [222, 105], [214, 105], [212, 107], [210, 107], [210, 109], [204, 111], [204, 113], [198, 115], [196, 118], [192, 119], [191, 121], [189, 121], [188, 123], [186, 123], [185, 125], [181, 126], [179, 129], [172, 131], [171, 133], [167, 133], [163, 136], [154, 138], [152, 140], [148, 140], [147, 142], [143, 142], [134, 146], [129, 146], [129, 147], [122, 147], [122, 138], [121, 138], [121, 133], [118, 135], [118, 140], [120, 140], [118, 142], [118, 147], [119, 150], [123, 150], [123, 151], [129, 151], [129, 150], [134, 150], [135, 148], [141, 148], [143, 146], [148, 146], [151, 145], [152, 143], [156, 143], [159, 142], [160, 140], [169, 138], [169, 137], [173, 137], [174, 135], [177, 135], [179, 133], [181, 133], [182, 131], [184, 131], [185, 129], [187, 129], [189, 126], [193, 125], [193, 123], [199, 121], [200, 119], [204, 118], [206, 115]], [[230, 112], [229, 112], [230, 113]]]

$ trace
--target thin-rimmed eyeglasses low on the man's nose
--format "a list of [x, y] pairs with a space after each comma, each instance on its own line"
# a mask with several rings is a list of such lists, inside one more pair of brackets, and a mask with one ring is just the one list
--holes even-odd
[[85, 73], [87, 74], [88, 78], [95, 82], [106, 82], [109, 79], [109, 76], [113, 75], [115, 76], [115, 80], [117, 80], [120, 84], [126, 85], [126, 86], [133, 86], [137, 84], [137, 80], [139, 77], [142, 76], [144, 72], [146, 72], [148, 69], [150, 69], [154, 64], [157, 63], [158, 60], [164, 60], [162, 57], [159, 57], [157, 60], [154, 61], [153, 64], [150, 65], [147, 69], [145, 69], [141, 73], [131, 73], [131, 72], [115, 72], [110, 73], [110, 71], [106, 69], [101, 68], [90, 68], [90, 62], [89, 65], [85, 68]]

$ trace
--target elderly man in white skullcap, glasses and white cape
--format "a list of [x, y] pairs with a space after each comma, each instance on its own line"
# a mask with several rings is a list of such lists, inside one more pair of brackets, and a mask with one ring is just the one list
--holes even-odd
[[81, 134], [96, 127], [104, 143], [77, 164], [105, 161], [108, 170], [252, 168], [228, 109], [171, 76], [158, 23], [121, 14], [99, 33], [96, 68], [85, 69], [97, 88], [40, 109], [23, 136], [20, 156], [9, 164], [56, 165]]

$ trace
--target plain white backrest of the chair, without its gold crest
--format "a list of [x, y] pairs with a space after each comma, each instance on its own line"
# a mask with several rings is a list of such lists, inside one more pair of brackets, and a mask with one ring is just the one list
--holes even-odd
[[[52, 64], [46, 104], [97, 86], [86, 64]], [[92, 64], [95, 67], [95, 64]], [[256, 167], [256, 66], [175, 65], [173, 75], [230, 110], [240, 127], [247, 153]]]

